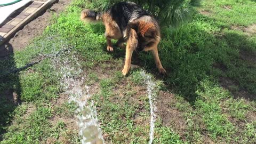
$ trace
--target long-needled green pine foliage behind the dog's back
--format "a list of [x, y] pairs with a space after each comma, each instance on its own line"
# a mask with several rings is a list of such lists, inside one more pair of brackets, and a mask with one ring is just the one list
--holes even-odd
[[[201, 0], [175, 0], [175, 1], [141, 1], [133, 0], [147, 10], [150, 14], [153, 14], [163, 26], [178, 26], [188, 20], [191, 20], [192, 15], [195, 12], [195, 7], [200, 5]], [[87, 1], [87, 6], [97, 7], [98, 11], [106, 11], [112, 5], [121, 0], [93, 0], [92, 3]]]

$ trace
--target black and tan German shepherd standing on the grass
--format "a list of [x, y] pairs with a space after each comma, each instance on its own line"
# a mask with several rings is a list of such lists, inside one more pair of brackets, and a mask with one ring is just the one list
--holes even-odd
[[161, 39], [159, 25], [153, 16], [139, 5], [133, 2], [119, 2], [106, 12], [85, 9], [81, 12], [81, 20], [103, 22], [106, 28], [107, 51], [114, 50], [111, 39], [118, 39], [117, 46], [125, 48], [123, 75], [126, 75], [131, 68], [133, 51], [151, 51], [159, 73], [166, 74], [157, 50]]

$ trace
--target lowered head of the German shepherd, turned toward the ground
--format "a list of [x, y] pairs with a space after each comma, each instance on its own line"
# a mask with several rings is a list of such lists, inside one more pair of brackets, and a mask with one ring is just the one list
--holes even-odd
[[160, 31], [155, 21], [136, 20], [129, 22], [128, 26], [137, 32], [140, 49], [151, 50], [160, 42]]

